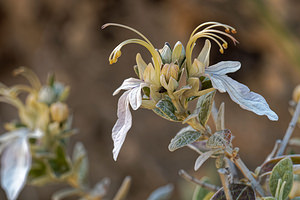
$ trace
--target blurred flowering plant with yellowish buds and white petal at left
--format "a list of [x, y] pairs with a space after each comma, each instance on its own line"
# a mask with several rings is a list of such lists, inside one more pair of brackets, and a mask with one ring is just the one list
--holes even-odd
[[[0, 136], [1, 186], [9, 200], [18, 198], [24, 185], [42, 186], [65, 183], [70, 187], [53, 194], [53, 200], [78, 196], [84, 200], [105, 199], [110, 179], [104, 178], [94, 187], [88, 181], [88, 157], [81, 142], [73, 155], [66, 153], [70, 137], [76, 133], [72, 115], [65, 103], [69, 87], [49, 76], [46, 85], [29, 69], [14, 72], [28, 79], [28, 85], [0, 85], [0, 101], [18, 109], [19, 118], [5, 124], [7, 133]], [[26, 93], [25, 102], [20, 98]], [[23, 96], [22, 96], [23, 97]], [[115, 200], [124, 199], [130, 186], [125, 178]]]

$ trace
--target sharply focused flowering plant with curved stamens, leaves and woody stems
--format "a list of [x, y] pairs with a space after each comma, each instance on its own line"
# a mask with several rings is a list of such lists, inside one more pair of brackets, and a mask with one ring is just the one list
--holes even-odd
[[[271, 154], [255, 172], [251, 172], [246, 167], [238, 154], [239, 148], [232, 145], [233, 135], [225, 127], [224, 103], [219, 109], [214, 104], [216, 90], [227, 92], [241, 108], [257, 115], [266, 115], [273, 121], [278, 120], [276, 113], [269, 108], [261, 95], [251, 92], [247, 86], [227, 76], [228, 73], [240, 69], [241, 64], [238, 61], [223, 61], [209, 65], [210, 40], [214, 41], [223, 53], [228, 47], [223, 37], [237, 43], [230, 34], [236, 33], [233, 27], [207, 22], [192, 32], [186, 48], [177, 42], [173, 49], [166, 43], [162, 49], [157, 50], [143, 34], [133, 28], [113, 23], [105, 24], [103, 28], [107, 26], [129, 29], [142, 38], [129, 39], [120, 43], [109, 56], [110, 64], [117, 62], [121, 56], [121, 48], [130, 43], [144, 46], [152, 56], [152, 62], [147, 64], [138, 53], [137, 65], [134, 66], [138, 78], [126, 79], [114, 92], [116, 95], [121, 90], [125, 90], [118, 101], [118, 120], [112, 129], [115, 160], [132, 125], [130, 106], [133, 110], [142, 107], [153, 110], [167, 120], [188, 124], [171, 140], [169, 150], [175, 151], [187, 146], [196, 151], [199, 157], [194, 165], [195, 170], [198, 170], [207, 159], [215, 159], [222, 182], [221, 188], [210, 184], [207, 180], [198, 180], [184, 170], [179, 171], [182, 177], [199, 185], [193, 200], [285, 200], [289, 195], [290, 198], [295, 197], [295, 192], [294, 196], [291, 196], [291, 190], [299, 179], [297, 174], [299, 174], [300, 155], [283, 155], [283, 153], [299, 117], [299, 99], [295, 103], [297, 106], [293, 110], [294, 116], [284, 139], [277, 141]], [[199, 55], [193, 58], [192, 52], [199, 38], [207, 39]], [[299, 94], [294, 96], [298, 97]], [[189, 105], [192, 101], [197, 101], [194, 108]], [[211, 115], [215, 123], [214, 129], [207, 124]], [[238, 176], [237, 168], [243, 174], [243, 178]]]

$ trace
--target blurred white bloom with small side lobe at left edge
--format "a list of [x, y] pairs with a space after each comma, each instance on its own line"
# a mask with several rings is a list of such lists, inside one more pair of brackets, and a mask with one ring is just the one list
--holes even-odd
[[17, 199], [23, 189], [31, 168], [31, 154], [28, 138], [38, 138], [42, 132], [30, 132], [22, 128], [0, 136], [1, 186], [9, 200]]

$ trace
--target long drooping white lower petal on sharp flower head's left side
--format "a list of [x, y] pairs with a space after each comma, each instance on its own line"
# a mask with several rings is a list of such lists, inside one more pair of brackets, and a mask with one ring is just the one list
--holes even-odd
[[130, 91], [124, 92], [118, 101], [118, 120], [112, 129], [114, 141], [113, 158], [117, 160], [121, 147], [125, 141], [128, 130], [132, 125], [132, 117], [129, 109]]

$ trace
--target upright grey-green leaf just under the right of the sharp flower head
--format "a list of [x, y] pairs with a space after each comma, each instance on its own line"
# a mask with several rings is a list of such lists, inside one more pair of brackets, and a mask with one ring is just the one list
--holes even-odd
[[199, 121], [205, 126], [211, 113], [212, 103], [216, 94], [216, 90], [199, 97], [197, 108], [199, 109]]

